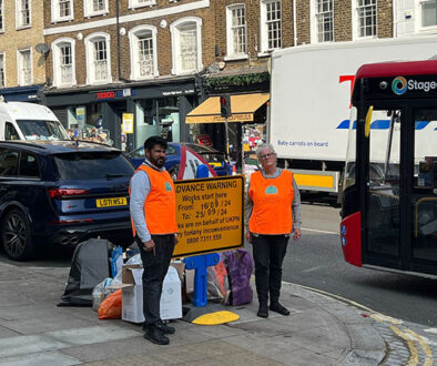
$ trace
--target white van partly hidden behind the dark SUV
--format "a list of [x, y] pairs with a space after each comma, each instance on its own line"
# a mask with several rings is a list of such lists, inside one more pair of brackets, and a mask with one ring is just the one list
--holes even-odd
[[49, 108], [4, 102], [0, 95], [0, 141], [4, 140], [70, 140], [70, 136]]

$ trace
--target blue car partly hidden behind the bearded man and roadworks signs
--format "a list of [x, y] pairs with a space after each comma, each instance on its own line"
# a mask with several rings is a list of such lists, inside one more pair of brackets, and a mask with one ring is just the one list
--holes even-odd
[[[165, 169], [169, 171], [173, 180], [176, 180], [179, 169], [181, 166], [181, 146], [186, 146], [192, 152], [201, 155], [217, 173], [217, 175], [230, 174], [230, 163], [225, 159], [225, 154], [209, 146], [199, 145], [187, 142], [169, 142], [165, 153]], [[132, 164], [139, 167], [144, 162], [144, 146], [138, 148], [130, 152], [128, 156]]]

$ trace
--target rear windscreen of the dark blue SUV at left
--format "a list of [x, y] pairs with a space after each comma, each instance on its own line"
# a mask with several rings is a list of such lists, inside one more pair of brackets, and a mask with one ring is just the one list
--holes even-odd
[[74, 152], [54, 155], [62, 180], [99, 180], [132, 176], [134, 169], [119, 151]]

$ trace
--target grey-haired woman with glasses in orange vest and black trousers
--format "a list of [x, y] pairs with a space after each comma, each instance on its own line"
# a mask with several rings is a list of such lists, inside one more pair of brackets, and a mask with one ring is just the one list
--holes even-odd
[[256, 156], [261, 171], [251, 175], [245, 214], [246, 237], [253, 245], [255, 262], [257, 316], [267, 317], [268, 308], [288, 315], [288, 309], [280, 304], [282, 264], [289, 236], [301, 238], [301, 195], [293, 173], [276, 166], [271, 144], [261, 145]]

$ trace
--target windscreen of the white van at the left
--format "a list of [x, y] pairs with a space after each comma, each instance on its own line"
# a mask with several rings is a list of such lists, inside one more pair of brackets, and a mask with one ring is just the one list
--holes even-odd
[[26, 140], [70, 140], [65, 130], [57, 121], [18, 120]]

